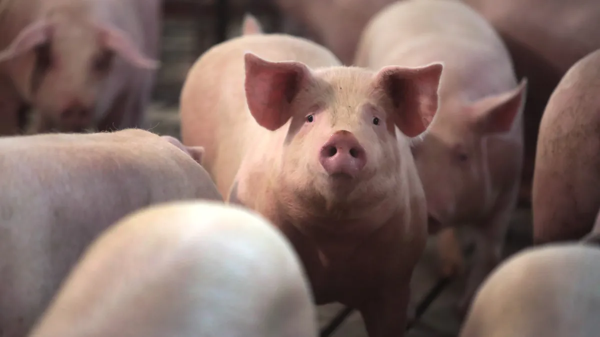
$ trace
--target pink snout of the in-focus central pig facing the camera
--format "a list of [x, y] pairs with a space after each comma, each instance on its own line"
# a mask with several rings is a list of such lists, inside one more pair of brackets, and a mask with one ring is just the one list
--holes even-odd
[[329, 175], [355, 177], [367, 163], [367, 154], [350, 131], [341, 130], [323, 145], [319, 161]]

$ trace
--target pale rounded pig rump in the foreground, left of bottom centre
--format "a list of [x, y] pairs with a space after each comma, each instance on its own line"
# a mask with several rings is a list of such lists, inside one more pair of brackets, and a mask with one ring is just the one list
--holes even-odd
[[260, 215], [214, 201], [125, 216], [86, 248], [29, 337], [316, 337], [308, 280]]

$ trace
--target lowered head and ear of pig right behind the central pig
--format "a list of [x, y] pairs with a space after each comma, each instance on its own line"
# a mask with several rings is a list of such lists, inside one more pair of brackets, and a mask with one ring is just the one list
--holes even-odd
[[523, 110], [526, 88], [524, 79], [512, 91], [470, 105], [442, 104], [439, 112], [430, 116], [427, 131], [411, 140], [431, 228], [467, 221], [484, 211], [482, 202], [491, 193], [491, 174], [511, 156], [507, 151], [490, 151], [488, 141], [511, 130]]

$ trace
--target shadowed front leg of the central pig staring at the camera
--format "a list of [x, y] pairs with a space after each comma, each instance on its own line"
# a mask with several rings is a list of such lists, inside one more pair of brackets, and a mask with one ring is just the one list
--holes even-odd
[[404, 336], [410, 294], [409, 280], [410, 275], [406, 281], [383, 288], [368, 303], [358, 308], [369, 337]]

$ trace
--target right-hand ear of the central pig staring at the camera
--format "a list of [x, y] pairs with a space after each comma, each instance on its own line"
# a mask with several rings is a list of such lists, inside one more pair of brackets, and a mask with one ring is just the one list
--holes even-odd
[[421, 134], [436, 114], [442, 70], [442, 63], [417, 68], [389, 65], [376, 74], [376, 86], [391, 100], [395, 123], [406, 136]]

